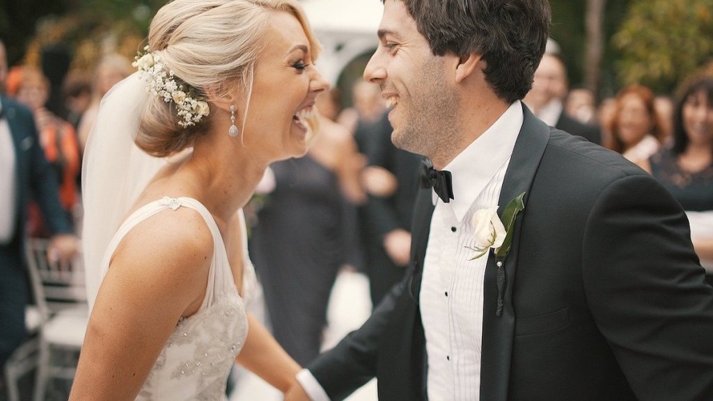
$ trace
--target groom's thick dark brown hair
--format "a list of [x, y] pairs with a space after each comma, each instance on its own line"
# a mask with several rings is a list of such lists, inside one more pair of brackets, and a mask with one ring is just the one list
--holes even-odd
[[396, 1], [406, 5], [434, 55], [481, 54], [486, 81], [508, 103], [530, 91], [550, 32], [548, 0]]

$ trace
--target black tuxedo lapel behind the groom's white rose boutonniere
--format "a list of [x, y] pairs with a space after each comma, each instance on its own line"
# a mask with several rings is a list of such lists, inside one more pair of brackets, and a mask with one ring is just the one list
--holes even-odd
[[481, 346], [481, 400], [506, 401], [508, 380], [515, 331], [515, 310], [513, 310], [513, 283], [520, 245], [520, 228], [523, 215], [528, 212], [527, 200], [535, 172], [545, 152], [550, 138], [550, 128], [538, 120], [523, 105], [523, 126], [506, 171], [498, 205], [500, 212], [514, 198], [525, 193], [525, 209], [515, 218], [513, 245], [505, 260], [506, 272], [503, 314], [496, 315], [498, 267], [495, 257], [488, 258], [485, 283], [483, 284], [483, 340]]

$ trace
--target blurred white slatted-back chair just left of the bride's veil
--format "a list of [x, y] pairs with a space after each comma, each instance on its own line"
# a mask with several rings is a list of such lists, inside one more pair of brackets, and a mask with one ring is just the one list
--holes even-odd
[[76, 357], [68, 363], [58, 363], [59, 356], [61, 352], [65, 356], [78, 355], [88, 322], [81, 255], [71, 263], [50, 263], [48, 243], [40, 238], [27, 238], [25, 242], [35, 302], [43, 322], [39, 330], [35, 401], [45, 400], [50, 380], [73, 380]]

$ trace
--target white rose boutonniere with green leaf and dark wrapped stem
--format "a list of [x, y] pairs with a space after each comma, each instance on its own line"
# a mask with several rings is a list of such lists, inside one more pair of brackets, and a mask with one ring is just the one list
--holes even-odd
[[511, 200], [503, 214], [498, 218], [497, 208], [476, 210], [473, 213], [473, 230], [476, 236], [476, 246], [466, 247], [476, 252], [476, 255], [471, 258], [477, 259], [486, 255], [491, 248], [495, 251], [498, 284], [498, 305], [496, 315], [503, 314], [505, 306], [505, 260], [510, 253], [513, 245], [513, 226], [515, 225], [515, 217], [525, 208], [523, 199], [525, 193], [520, 193], [515, 199]]

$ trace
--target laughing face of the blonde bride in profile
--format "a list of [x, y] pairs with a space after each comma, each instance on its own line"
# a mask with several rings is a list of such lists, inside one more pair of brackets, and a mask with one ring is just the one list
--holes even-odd
[[304, 156], [312, 136], [307, 118], [329, 83], [314, 68], [307, 35], [291, 14], [272, 14], [265, 43], [255, 66], [244, 141], [256, 143], [270, 160]]

